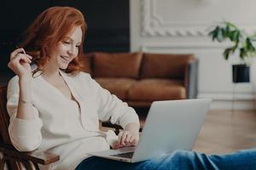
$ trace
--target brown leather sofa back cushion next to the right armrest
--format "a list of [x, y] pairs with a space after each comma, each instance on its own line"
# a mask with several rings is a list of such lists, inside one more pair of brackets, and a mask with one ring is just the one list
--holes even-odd
[[166, 77], [183, 79], [185, 65], [192, 54], [143, 54], [141, 78]]

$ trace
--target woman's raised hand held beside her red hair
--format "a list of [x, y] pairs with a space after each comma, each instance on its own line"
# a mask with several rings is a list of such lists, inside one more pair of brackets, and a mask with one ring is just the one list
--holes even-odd
[[15, 49], [15, 51], [10, 54], [8, 67], [14, 71], [18, 77], [31, 76], [32, 69], [30, 63], [32, 62], [32, 56], [21, 54], [21, 52], [24, 52], [23, 48]]

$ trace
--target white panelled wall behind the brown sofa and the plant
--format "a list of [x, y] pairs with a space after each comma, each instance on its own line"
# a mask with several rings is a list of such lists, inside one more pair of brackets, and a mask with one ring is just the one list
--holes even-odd
[[233, 61], [222, 56], [229, 43], [207, 37], [210, 26], [222, 20], [247, 33], [256, 31], [254, 7], [255, 0], [130, 0], [131, 51], [195, 54], [200, 59], [199, 98], [214, 99], [212, 108], [217, 109], [255, 109], [256, 73], [252, 83], [233, 84]]

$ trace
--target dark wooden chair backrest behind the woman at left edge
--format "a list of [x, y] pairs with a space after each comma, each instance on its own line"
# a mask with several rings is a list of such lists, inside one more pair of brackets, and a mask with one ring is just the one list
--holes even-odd
[[9, 114], [6, 109], [7, 104], [7, 87], [0, 87], [0, 143], [12, 144], [9, 139]]

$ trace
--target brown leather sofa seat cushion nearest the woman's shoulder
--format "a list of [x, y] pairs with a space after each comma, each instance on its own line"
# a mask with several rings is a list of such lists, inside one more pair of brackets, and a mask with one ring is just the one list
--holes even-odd
[[131, 78], [95, 78], [102, 88], [108, 89], [111, 94], [115, 94], [119, 99], [127, 99], [128, 89], [136, 80]]

